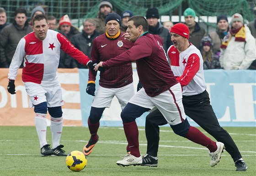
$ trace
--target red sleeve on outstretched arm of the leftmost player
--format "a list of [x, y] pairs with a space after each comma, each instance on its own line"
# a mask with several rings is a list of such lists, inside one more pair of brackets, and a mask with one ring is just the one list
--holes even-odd
[[88, 56], [85, 56], [83, 52], [74, 47], [74, 45], [72, 45], [70, 41], [62, 34], [58, 33], [57, 38], [61, 45], [60, 49], [62, 49], [65, 53], [73, 57], [81, 64], [87, 65], [87, 63], [90, 61]]

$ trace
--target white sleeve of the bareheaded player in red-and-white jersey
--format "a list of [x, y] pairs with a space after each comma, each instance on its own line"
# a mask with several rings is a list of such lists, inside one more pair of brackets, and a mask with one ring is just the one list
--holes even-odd
[[11, 60], [11, 64], [9, 67], [9, 73], [8, 73], [9, 79], [13, 79], [13, 80], [16, 79], [18, 69], [21, 66], [23, 58], [25, 58], [25, 55], [26, 55], [25, 44], [26, 44], [25, 39], [21, 38], [21, 40], [19, 41], [19, 43], [16, 47], [16, 51], [12, 57], [12, 60]]

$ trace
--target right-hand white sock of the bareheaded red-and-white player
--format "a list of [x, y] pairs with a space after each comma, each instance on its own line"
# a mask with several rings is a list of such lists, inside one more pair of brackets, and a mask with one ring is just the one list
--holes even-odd
[[63, 118], [54, 118], [51, 117], [51, 131], [52, 131], [52, 140], [53, 140], [53, 149], [59, 146], [60, 136], [62, 133], [63, 127]]

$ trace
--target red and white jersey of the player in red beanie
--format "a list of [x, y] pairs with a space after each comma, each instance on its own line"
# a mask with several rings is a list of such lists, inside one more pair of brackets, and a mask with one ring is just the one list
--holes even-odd
[[183, 88], [182, 95], [197, 95], [205, 91], [203, 57], [200, 51], [191, 44], [179, 53], [172, 45], [167, 53], [171, 61], [171, 70]]

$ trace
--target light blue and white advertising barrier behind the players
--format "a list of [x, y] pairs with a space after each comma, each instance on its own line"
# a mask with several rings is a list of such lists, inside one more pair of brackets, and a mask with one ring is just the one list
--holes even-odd
[[[211, 104], [221, 126], [256, 127], [256, 71], [222, 69], [205, 70], [205, 81]], [[88, 81], [88, 70], [79, 69], [80, 98], [82, 124], [87, 126], [93, 97], [85, 93]], [[98, 87], [99, 75], [96, 78]], [[137, 88], [138, 75], [133, 71], [134, 90]], [[120, 118], [121, 108], [116, 99], [113, 99], [110, 109], [105, 109], [100, 124], [101, 126], [123, 126]], [[136, 119], [138, 126], [144, 126], [144, 113]], [[192, 126], [198, 126], [190, 118]]]

